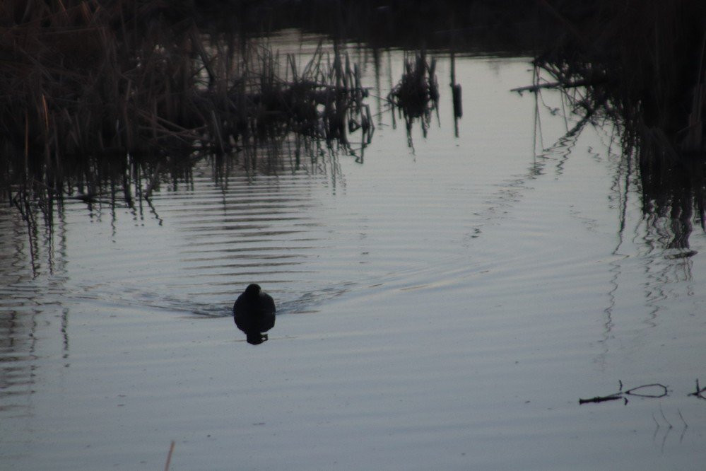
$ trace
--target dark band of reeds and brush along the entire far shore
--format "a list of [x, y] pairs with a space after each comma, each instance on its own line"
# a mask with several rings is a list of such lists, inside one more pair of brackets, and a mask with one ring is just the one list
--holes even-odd
[[[645, 211], [671, 214], [686, 247], [693, 216], [706, 228], [705, 20], [697, 0], [6, 0], [0, 191], [20, 211], [102, 187], [130, 204], [196, 158], [254, 168], [259, 146], [283, 141], [297, 159], [325, 144], [362, 162], [374, 127], [344, 42], [413, 52], [388, 97], [408, 129], [435, 110], [424, 51], [525, 55], [543, 74], [517, 91], [559, 88], [583, 122], [616, 122]], [[298, 64], [269, 47], [283, 28], [334, 46]]]

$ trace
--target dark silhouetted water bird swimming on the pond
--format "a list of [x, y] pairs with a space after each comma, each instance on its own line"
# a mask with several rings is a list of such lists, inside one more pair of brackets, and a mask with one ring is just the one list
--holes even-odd
[[233, 319], [237, 328], [245, 332], [247, 343], [257, 345], [267, 339], [262, 332], [274, 327], [275, 311], [272, 296], [253, 283], [235, 300]]

